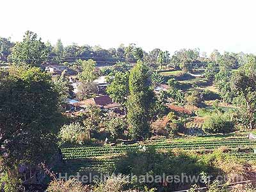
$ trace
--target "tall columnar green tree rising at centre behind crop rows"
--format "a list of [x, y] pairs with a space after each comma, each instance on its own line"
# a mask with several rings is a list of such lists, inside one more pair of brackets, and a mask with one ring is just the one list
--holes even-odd
[[148, 68], [141, 62], [132, 68], [129, 76], [128, 122], [131, 137], [147, 138], [150, 132], [149, 111], [154, 93], [149, 88]]

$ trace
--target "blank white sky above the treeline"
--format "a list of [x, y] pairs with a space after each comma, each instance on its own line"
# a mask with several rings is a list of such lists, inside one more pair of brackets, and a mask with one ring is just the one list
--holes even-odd
[[255, 0], [0, 0], [0, 36], [146, 51], [256, 53]]

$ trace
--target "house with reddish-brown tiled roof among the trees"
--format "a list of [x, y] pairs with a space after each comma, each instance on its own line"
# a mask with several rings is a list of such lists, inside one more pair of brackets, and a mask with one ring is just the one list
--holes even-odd
[[91, 105], [95, 105], [104, 111], [113, 111], [116, 113], [120, 113], [121, 111], [121, 105], [113, 102], [113, 100], [108, 95], [82, 100], [77, 103], [77, 106], [80, 108], [87, 108]]

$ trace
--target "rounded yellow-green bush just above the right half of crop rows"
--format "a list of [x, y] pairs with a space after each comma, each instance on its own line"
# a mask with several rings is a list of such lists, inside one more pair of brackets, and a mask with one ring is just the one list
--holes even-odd
[[234, 122], [225, 115], [212, 115], [205, 120], [203, 129], [209, 133], [227, 134], [234, 131]]

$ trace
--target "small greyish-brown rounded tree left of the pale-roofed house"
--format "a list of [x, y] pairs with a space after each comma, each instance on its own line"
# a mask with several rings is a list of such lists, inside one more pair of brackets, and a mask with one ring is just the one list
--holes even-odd
[[98, 91], [97, 85], [93, 82], [83, 82], [79, 84], [77, 89], [77, 98], [79, 100], [91, 98], [95, 96]]

